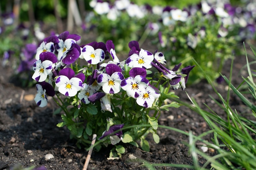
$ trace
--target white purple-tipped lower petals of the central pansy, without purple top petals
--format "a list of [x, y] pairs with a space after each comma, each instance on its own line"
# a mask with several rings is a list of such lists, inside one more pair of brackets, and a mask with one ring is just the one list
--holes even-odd
[[102, 73], [98, 77], [98, 84], [102, 86], [102, 90], [108, 94], [115, 94], [121, 90], [121, 81], [124, 75], [120, 72], [115, 72], [111, 76], [107, 73]]

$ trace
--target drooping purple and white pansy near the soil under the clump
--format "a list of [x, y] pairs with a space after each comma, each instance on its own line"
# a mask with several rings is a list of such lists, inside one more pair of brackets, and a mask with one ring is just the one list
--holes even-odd
[[[99, 138], [99, 140], [103, 139], [104, 137], [107, 137], [110, 134], [113, 134], [110, 136], [110, 141], [112, 145], [115, 145], [119, 143], [121, 140], [123, 140], [123, 132], [120, 130], [121, 128], [124, 127], [124, 124], [119, 124], [119, 125], [112, 125], [110, 128], [106, 131], [103, 132], [102, 136]], [[118, 132], [115, 132], [119, 130]], [[115, 132], [115, 133], [114, 133]]]

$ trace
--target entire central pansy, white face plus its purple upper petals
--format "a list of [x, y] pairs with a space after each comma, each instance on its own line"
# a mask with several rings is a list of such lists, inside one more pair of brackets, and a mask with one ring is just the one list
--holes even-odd
[[102, 86], [102, 90], [108, 94], [115, 94], [121, 90], [121, 81], [124, 75], [121, 73], [121, 68], [116, 64], [108, 64], [106, 73], [98, 76], [98, 84]]

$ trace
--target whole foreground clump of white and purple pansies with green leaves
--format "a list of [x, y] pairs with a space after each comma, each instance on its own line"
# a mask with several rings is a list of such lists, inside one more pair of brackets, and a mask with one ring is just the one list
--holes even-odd
[[[128, 130], [124, 142], [137, 139], [145, 142], [144, 135], [148, 132], [157, 136], [157, 113], [174, 106], [165, 102], [176, 97], [169, 88], [184, 89], [193, 66], [179, 72], [179, 64], [169, 70], [163, 53], [141, 49], [137, 41], [128, 44], [128, 58], [120, 61], [112, 40], [106, 44], [79, 45], [80, 38], [65, 31], [45, 38], [38, 45], [32, 75], [38, 82], [36, 104], [47, 106], [47, 96], [53, 97], [65, 113], [58, 126], [67, 126], [83, 144], [92, 133], [99, 135], [105, 130], [99, 138], [105, 139], [115, 130], [136, 124], [152, 127]], [[85, 65], [80, 66], [80, 62]], [[150, 110], [155, 113], [150, 115]], [[105, 142], [117, 144], [123, 139], [122, 131], [115, 134]]]

